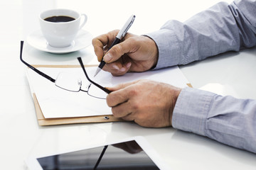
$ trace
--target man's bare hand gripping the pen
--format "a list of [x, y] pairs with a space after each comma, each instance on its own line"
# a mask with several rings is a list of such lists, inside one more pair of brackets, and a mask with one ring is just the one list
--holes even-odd
[[92, 40], [92, 45], [100, 62], [102, 57], [106, 64], [103, 70], [113, 76], [121, 76], [127, 72], [144, 72], [156, 66], [158, 48], [154, 40], [146, 36], [127, 33], [117, 45], [108, 52], [119, 30], [103, 34]]

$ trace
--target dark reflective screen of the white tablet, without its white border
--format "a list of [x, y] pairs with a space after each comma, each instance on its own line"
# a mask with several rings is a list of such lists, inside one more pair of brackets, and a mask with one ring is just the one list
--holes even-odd
[[135, 140], [37, 159], [44, 170], [159, 169]]

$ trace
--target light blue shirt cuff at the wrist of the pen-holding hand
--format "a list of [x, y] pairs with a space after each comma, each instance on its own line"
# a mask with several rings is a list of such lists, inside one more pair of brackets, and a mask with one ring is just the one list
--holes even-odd
[[161, 29], [145, 35], [156, 42], [159, 50], [159, 60], [154, 69], [178, 64], [178, 56], [181, 56], [181, 50], [179, 49], [176, 34], [173, 30]]

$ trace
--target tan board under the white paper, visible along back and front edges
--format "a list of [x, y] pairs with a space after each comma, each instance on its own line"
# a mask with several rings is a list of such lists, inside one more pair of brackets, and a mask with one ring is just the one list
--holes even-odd
[[[33, 67], [50, 67], [50, 68], [78, 68], [80, 65], [40, 65], [33, 64]], [[97, 65], [85, 65], [85, 67], [95, 67]], [[110, 122], [120, 122], [126, 121], [122, 118], [115, 118], [113, 115], [95, 115], [95, 116], [85, 116], [85, 117], [74, 117], [74, 118], [45, 118], [40, 107], [40, 103], [36, 98], [36, 94], [33, 92], [33, 103], [36, 109], [36, 117], [38, 120], [38, 125], [65, 125], [65, 124], [76, 124], [76, 123], [110, 123]]]

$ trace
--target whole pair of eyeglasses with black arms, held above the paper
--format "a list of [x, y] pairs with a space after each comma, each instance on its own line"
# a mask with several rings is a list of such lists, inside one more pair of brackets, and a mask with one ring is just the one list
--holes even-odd
[[95, 83], [95, 81], [92, 81], [85, 70], [85, 66], [82, 63], [81, 57], [78, 57], [78, 62], [80, 63], [83, 72], [85, 73], [85, 77], [90, 82], [88, 84], [86, 90], [81, 89], [82, 88], [82, 80], [80, 78], [76, 78], [74, 74], [68, 74], [65, 72], [60, 72], [58, 74], [58, 77], [56, 79], [53, 79], [52, 77], [48, 76], [47, 74], [44, 74], [43, 72], [39, 71], [35, 67], [31, 66], [31, 64], [28, 64], [22, 59], [22, 51], [23, 51], [23, 41], [21, 41], [21, 51], [20, 51], [20, 59], [23, 64], [26, 64], [29, 68], [33, 69], [36, 73], [40, 74], [42, 77], [45, 77], [46, 79], [52, 81], [55, 86], [58, 86], [61, 89], [64, 89], [66, 91], [84, 91], [87, 92], [89, 96], [100, 98], [100, 99], [106, 99], [107, 94], [110, 94], [112, 91], [100, 86], [100, 84]]

